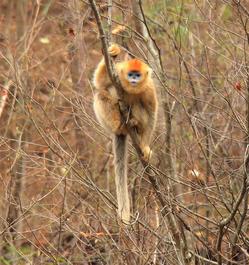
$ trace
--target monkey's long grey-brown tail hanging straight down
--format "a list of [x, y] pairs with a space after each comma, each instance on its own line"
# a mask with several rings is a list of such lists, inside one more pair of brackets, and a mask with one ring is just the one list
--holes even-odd
[[113, 151], [119, 218], [128, 223], [130, 220], [130, 204], [127, 186], [127, 135], [114, 136]]

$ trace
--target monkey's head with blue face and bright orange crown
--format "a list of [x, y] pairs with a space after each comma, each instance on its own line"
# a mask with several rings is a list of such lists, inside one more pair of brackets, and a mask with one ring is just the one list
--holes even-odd
[[128, 93], [142, 93], [151, 82], [151, 69], [137, 58], [119, 63], [117, 72], [122, 87]]

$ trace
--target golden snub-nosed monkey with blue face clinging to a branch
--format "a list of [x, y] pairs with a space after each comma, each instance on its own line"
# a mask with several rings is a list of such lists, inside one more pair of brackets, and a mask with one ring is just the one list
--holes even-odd
[[[108, 48], [113, 61], [120, 53], [117, 45]], [[116, 63], [115, 65], [124, 96], [122, 102], [131, 106], [131, 126], [136, 126], [142, 159], [147, 160], [150, 154], [150, 140], [157, 117], [157, 98], [151, 78], [152, 69], [139, 59]], [[127, 187], [127, 128], [121, 122], [118, 96], [115, 87], [106, 71], [104, 59], [94, 73], [94, 85], [97, 93], [94, 96], [94, 111], [100, 124], [113, 137], [115, 164], [115, 183], [118, 200], [119, 218], [129, 221], [130, 207]]]

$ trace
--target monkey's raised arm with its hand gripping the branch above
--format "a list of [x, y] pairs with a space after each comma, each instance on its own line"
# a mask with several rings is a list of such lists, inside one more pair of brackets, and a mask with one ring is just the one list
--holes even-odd
[[[117, 45], [113, 44], [108, 48], [108, 51], [110, 56], [112, 56], [113, 62], [115, 62], [115, 59], [120, 54], [120, 48]], [[112, 86], [112, 83], [106, 71], [106, 64], [104, 58], [99, 63], [94, 73], [93, 80], [94, 80], [94, 86], [97, 89], [106, 89]]]

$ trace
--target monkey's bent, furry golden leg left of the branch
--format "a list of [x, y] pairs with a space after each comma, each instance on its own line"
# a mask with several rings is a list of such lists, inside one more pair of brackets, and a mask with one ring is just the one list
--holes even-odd
[[106, 89], [99, 89], [94, 96], [94, 110], [101, 125], [111, 133], [127, 135], [124, 122], [121, 122], [119, 103]]

